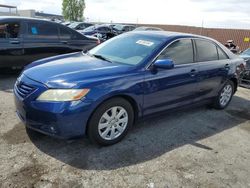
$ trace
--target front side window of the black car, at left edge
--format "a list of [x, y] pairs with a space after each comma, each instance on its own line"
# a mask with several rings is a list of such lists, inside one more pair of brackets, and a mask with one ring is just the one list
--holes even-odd
[[0, 39], [18, 38], [20, 33], [20, 23], [0, 23]]

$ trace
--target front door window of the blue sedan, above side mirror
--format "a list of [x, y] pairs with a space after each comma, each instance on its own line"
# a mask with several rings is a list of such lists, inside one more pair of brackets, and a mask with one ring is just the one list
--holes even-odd
[[172, 59], [177, 65], [193, 63], [194, 53], [191, 39], [182, 39], [172, 43], [158, 59]]

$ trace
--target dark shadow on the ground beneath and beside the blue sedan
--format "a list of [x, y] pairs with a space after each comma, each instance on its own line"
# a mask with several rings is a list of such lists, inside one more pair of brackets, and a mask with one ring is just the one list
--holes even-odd
[[29, 132], [30, 140], [42, 152], [72, 167], [111, 170], [143, 163], [190, 144], [215, 150], [198, 141], [250, 120], [250, 101], [235, 96], [224, 111], [204, 106], [189, 108], [147, 119], [137, 124], [120, 143], [100, 147], [88, 139], [58, 140]]

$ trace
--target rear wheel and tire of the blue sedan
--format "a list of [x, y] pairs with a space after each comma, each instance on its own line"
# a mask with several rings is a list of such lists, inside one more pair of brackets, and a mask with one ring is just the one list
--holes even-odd
[[234, 89], [234, 83], [228, 80], [215, 98], [213, 107], [218, 110], [225, 109], [232, 100]]

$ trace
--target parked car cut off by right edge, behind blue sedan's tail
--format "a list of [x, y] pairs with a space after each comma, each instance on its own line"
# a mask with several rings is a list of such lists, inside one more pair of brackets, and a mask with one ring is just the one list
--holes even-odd
[[242, 73], [240, 85], [250, 88], [250, 48], [242, 52], [240, 57], [246, 61], [245, 71]]

